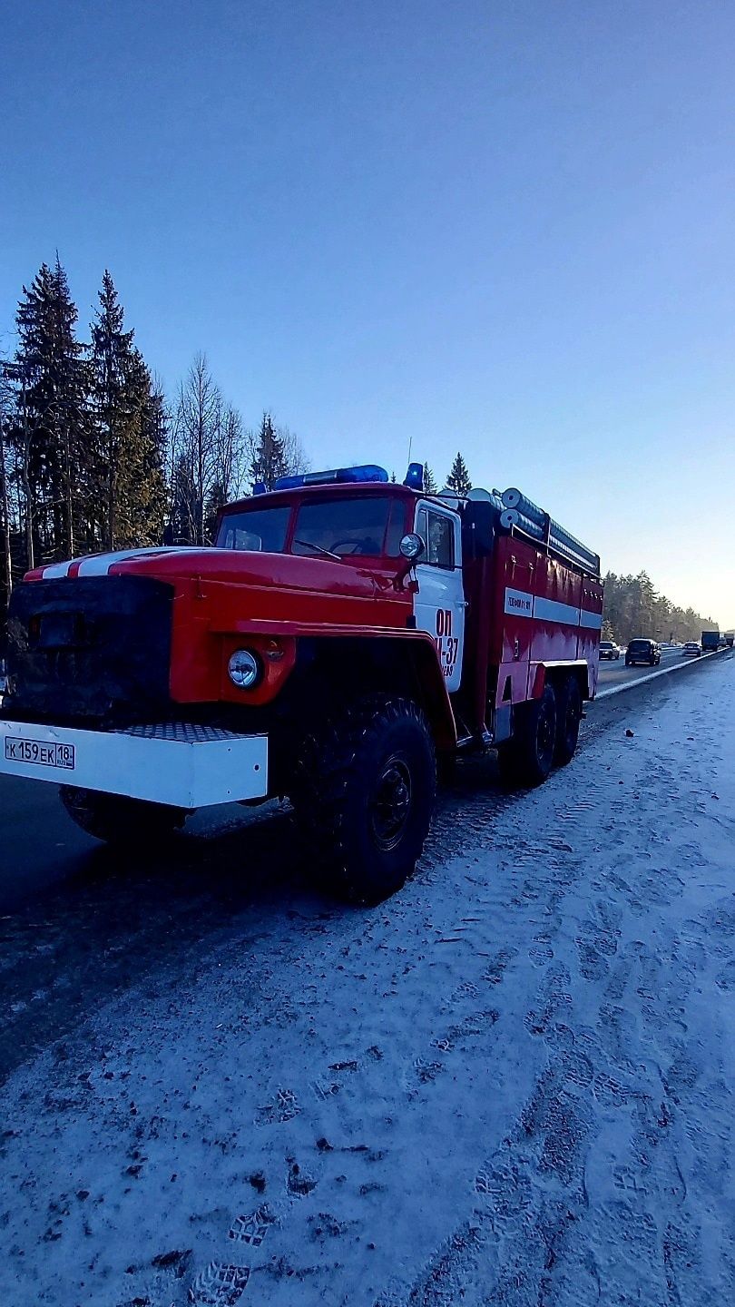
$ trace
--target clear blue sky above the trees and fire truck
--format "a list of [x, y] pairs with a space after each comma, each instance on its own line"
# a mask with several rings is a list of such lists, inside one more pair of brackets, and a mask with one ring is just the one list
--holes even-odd
[[462, 448], [735, 626], [734, 64], [725, 0], [16, 0], [0, 344], [58, 247], [170, 389]]

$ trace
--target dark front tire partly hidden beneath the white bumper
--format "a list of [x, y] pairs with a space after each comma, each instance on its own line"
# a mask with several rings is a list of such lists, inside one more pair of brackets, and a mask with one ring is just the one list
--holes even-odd
[[166, 804], [149, 804], [144, 799], [105, 795], [97, 789], [60, 786], [59, 796], [69, 817], [94, 839], [106, 844], [141, 844], [158, 842], [183, 826], [186, 812]]

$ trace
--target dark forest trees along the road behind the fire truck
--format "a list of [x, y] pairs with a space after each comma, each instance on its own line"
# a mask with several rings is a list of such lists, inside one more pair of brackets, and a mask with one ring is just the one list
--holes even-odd
[[[80, 337], [56, 257], [22, 288], [14, 348], [0, 358], [0, 620], [30, 567], [106, 549], [209, 544], [222, 503], [309, 467], [298, 437], [272, 413], [245, 422], [205, 354], [166, 395], [107, 271]], [[472, 488], [462, 452], [445, 484], [456, 494]], [[425, 485], [439, 489], [428, 465]], [[646, 572], [606, 578], [608, 637], [688, 639], [708, 623], [657, 595]]]

